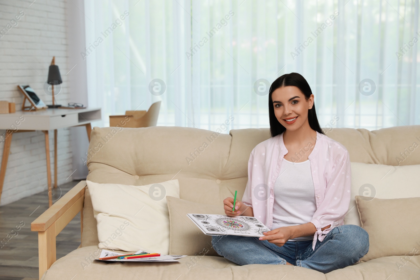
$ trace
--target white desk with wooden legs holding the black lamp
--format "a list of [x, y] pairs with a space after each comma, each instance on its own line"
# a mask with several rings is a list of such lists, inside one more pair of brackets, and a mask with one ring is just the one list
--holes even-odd
[[16, 111], [16, 113], [0, 114], [0, 129], [6, 129], [4, 136], [3, 158], [0, 170], [0, 198], [6, 175], [7, 161], [10, 152], [12, 135], [16, 132], [41, 130], [45, 134], [45, 153], [47, 157], [48, 205], [53, 205], [50, 168], [49, 130], [54, 130], [54, 188], [57, 188], [57, 129], [86, 126], [87, 137], [90, 141], [92, 127], [90, 123], [101, 120], [101, 108], [86, 109], [45, 109], [38, 111]]

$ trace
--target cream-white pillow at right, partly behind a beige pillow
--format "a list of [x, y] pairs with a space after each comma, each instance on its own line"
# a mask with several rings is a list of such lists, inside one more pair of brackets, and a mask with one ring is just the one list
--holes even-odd
[[344, 216], [344, 224], [362, 226], [357, 211], [355, 196], [394, 199], [420, 197], [420, 165], [392, 166], [350, 162], [352, 168], [352, 187], [350, 206]]

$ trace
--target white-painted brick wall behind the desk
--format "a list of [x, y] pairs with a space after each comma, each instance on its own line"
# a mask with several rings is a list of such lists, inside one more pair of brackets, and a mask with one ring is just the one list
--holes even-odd
[[[0, 31], [24, 12], [5, 35], [0, 34], [0, 100], [16, 103], [20, 110], [23, 95], [18, 84], [29, 84], [46, 103], [52, 100], [44, 92], [48, 67], [53, 56], [60, 68], [63, 84], [56, 97], [67, 105], [69, 79], [66, 73], [68, 44], [66, 35], [66, 2], [64, 0], [0, 0]], [[13, 25], [16, 25], [13, 22]], [[2, 37], [3, 36], [3, 37]], [[13, 50], [14, 48], [14, 50]], [[5, 133], [0, 130], [0, 135]], [[0, 156], [4, 144], [0, 141]], [[54, 182], [54, 131], [50, 131], [51, 181]], [[13, 133], [8, 167], [0, 205], [8, 204], [47, 189], [45, 141], [42, 131]], [[72, 170], [70, 129], [58, 129], [58, 185], [67, 183]], [[45, 203], [48, 203], [45, 198]]]

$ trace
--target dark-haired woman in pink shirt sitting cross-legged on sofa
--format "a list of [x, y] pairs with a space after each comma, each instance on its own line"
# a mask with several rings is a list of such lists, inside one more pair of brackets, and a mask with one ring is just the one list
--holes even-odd
[[304, 77], [284, 74], [268, 95], [271, 138], [258, 144], [248, 162], [242, 201], [223, 200], [228, 216], [257, 217], [271, 230], [264, 236], [213, 236], [215, 251], [239, 265], [288, 264], [323, 273], [358, 262], [369, 236], [344, 225], [350, 203], [347, 149], [326, 136]]

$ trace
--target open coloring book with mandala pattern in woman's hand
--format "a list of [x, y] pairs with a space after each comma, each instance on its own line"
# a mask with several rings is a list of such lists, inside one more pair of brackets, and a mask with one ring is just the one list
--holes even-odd
[[226, 216], [212, 214], [187, 214], [187, 216], [206, 235], [236, 235], [236, 236], [264, 236], [262, 233], [270, 231], [256, 217]]

